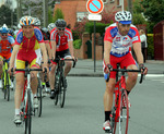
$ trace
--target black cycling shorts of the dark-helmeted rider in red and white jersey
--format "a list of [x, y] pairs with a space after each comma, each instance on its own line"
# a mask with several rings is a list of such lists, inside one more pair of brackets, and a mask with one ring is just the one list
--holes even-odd
[[58, 57], [60, 57], [60, 58], [68, 58], [68, 57], [70, 57], [71, 58], [70, 50], [66, 49], [63, 51], [56, 51], [56, 59], [55, 59], [55, 62], [51, 61], [52, 64], [57, 64], [57, 58]]

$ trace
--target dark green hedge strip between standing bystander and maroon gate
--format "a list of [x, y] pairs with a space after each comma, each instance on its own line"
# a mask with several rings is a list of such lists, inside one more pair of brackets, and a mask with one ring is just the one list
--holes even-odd
[[153, 44], [153, 36], [148, 36], [148, 56], [154, 58], [154, 44]]

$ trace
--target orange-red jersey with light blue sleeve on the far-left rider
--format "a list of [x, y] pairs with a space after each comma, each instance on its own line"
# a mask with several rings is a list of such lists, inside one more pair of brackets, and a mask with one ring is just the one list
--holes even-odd
[[11, 49], [15, 40], [11, 35], [8, 35], [5, 40], [0, 37], [0, 57], [9, 59], [11, 57]]

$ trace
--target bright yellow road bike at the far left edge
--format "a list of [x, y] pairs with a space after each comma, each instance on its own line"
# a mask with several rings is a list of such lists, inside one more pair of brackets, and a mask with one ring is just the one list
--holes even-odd
[[8, 73], [8, 60], [3, 59], [3, 66], [2, 66], [2, 75], [1, 75], [1, 80], [2, 80], [2, 90], [4, 93], [4, 99], [7, 99], [8, 101], [10, 100], [10, 85], [11, 85], [11, 81], [10, 81], [10, 75]]

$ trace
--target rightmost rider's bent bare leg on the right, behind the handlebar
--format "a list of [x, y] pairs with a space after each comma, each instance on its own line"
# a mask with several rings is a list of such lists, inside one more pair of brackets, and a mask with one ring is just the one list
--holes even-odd
[[[134, 65], [134, 64], [129, 65], [127, 69], [128, 70], [138, 70], [137, 65]], [[128, 78], [126, 82], [126, 88], [128, 92], [130, 92], [133, 88], [133, 86], [137, 83], [137, 78], [138, 78], [138, 73], [128, 72]]]

